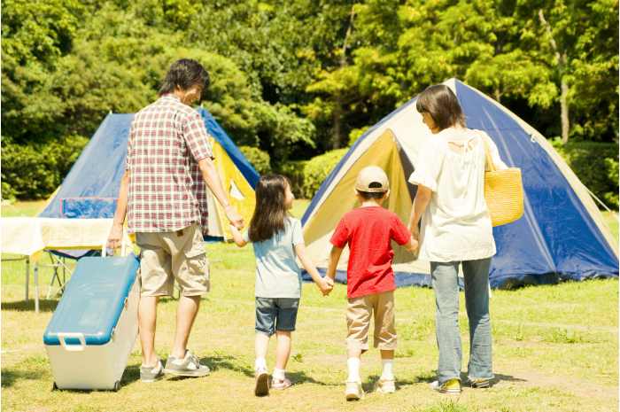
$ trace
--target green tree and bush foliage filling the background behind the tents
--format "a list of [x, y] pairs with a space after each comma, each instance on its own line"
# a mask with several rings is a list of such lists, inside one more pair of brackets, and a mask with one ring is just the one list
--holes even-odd
[[[566, 82], [570, 142], [618, 140], [617, 0], [3, 0], [2, 8], [4, 198], [48, 196], [83, 136], [109, 111], [153, 101], [181, 57], [207, 67], [205, 107], [236, 144], [268, 155], [265, 165], [252, 152], [261, 170], [298, 171], [450, 77], [550, 138], [561, 133]], [[613, 180], [617, 151], [597, 168]], [[306, 196], [321, 177], [309, 173], [298, 189]], [[617, 190], [599, 186], [609, 184], [591, 189], [616, 206]]]

